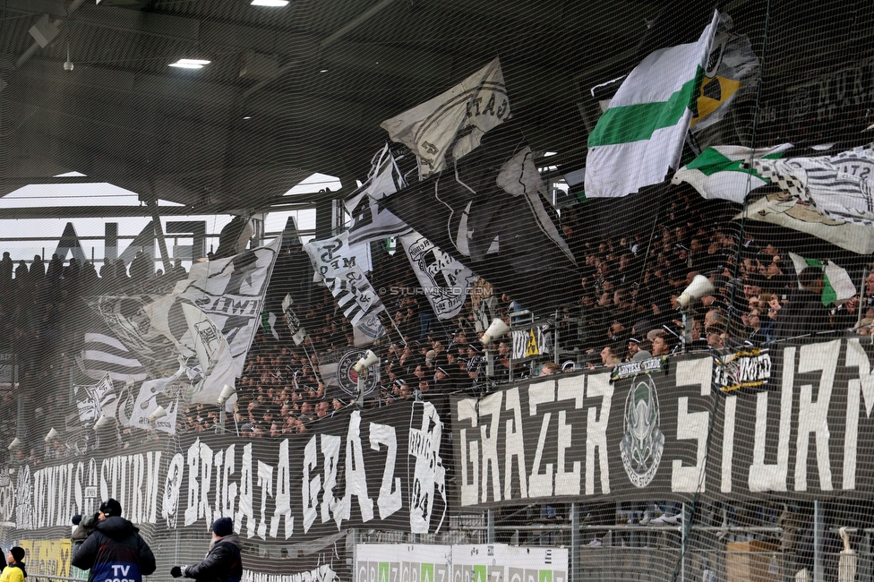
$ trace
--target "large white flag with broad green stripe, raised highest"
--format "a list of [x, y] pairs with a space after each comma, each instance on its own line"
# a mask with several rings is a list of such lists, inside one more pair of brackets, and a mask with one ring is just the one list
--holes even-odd
[[657, 50], [622, 82], [588, 136], [586, 195], [618, 197], [680, 165], [719, 13], [697, 42]]

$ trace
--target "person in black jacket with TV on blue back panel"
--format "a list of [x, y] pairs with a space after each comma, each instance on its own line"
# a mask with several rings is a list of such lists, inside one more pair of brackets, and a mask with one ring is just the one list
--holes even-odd
[[116, 578], [142, 582], [155, 571], [155, 555], [137, 529], [122, 518], [121, 503], [108, 499], [100, 504], [94, 532], [73, 552], [73, 566], [90, 569], [88, 582]]

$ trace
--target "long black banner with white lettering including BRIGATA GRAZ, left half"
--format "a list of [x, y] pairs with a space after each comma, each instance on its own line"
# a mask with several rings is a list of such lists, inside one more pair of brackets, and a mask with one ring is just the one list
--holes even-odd
[[[177, 434], [107, 456], [54, 465], [0, 466], [0, 522], [26, 533], [69, 531], [70, 518], [112, 497], [124, 518], [156, 533], [207, 532], [219, 517], [241, 537], [299, 543], [349, 527], [433, 534], [448, 504], [443, 425], [426, 402], [398, 402], [318, 421], [318, 432], [281, 439]], [[445, 454], [445, 453], [443, 453]], [[25, 535], [32, 537], [32, 535]], [[206, 537], [204, 537], [206, 539]]]

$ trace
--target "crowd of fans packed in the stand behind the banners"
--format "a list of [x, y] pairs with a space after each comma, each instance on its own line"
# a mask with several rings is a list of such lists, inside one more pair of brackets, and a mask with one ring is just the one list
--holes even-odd
[[[767, 347], [784, 338], [828, 331], [870, 334], [874, 273], [865, 279], [860, 295], [827, 307], [820, 297], [822, 271], [808, 268], [796, 273], [788, 256], [792, 247], [779, 244], [785, 239], [759, 240], [736, 222], [714, 219], [708, 215], [707, 201], [697, 196], [678, 195], [664, 218], [642, 233], [595, 236], [587, 220], [586, 205], [562, 212], [561, 227], [578, 264], [578, 287], [576, 301], [557, 317], [547, 314], [548, 320], [518, 317], [524, 313], [522, 305], [478, 279], [461, 312], [440, 321], [418, 292], [404, 253], [374, 252], [374, 287], [390, 289], [381, 295], [381, 318], [388, 333], [373, 346], [381, 359], [379, 385], [365, 406], [458, 390], [482, 393], [496, 382], [541, 372], [609, 366], [680, 351]], [[306, 338], [296, 345], [281, 321], [271, 333], [262, 329], [256, 335], [237, 381], [236, 414], [227, 420], [241, 435], [306, 432], [319, 419], [350, 406], [354, 398], [330, 380], [326, 386], [319, 364], [323, 355], [354, 347], [353, 328], [329, 290], [308, 283], [312, 273], [301, 265], [309, 266], [299, 247], [283, 251], [270, 283], [268, 309], [279, 312], [278, 297], [289, 285], [295, 287], [296, 317]], [[857, 261], [856, 270], [862, 268]], [[697, 275], [706, 277], [714, 291], [681, 310], [678, 298]], [[99, 271], [89, 262], [79, 265], [58, 256], [43, 261], [38, 255], [30, 264], [19, 261], [16, 266], [4, 253], [0, 351], [17, 356], [20, 386], [31, 408], [69, 405], [67, 393], [82, 342], [81, 313], [90, 312], [82, 297], [130, 293], [144, 282], [172, 283], [185, 276], [181, 261], [163, 273], [141, 252], [127, 269], [124, 261], [104, 261]], [[548, 281], [543, 292], [550, 293]], [[494, 318], [515, 329], [536, 324], [545, 326], [547, 334], [556, 332], [559, 354], [550, 339], [549, 353], [514, 360], [509, 336], [484, 353], [479, 338]], [[690, 331], [685, 331], [684, 318]], [[565, 365], [544, 367], [553, 361]], [[8, 390], [2, 396], [7, 405], [13, 403]], [[215, 430], [218, 416], [218, 407], [187, 407], [177, 416], [177, 429]], [[47, 454], [65, 453], [59, 447]]]

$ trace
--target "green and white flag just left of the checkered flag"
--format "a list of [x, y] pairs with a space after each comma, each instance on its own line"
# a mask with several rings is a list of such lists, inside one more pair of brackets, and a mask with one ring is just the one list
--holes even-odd
[[714, 146], [701, 152], [673, 175], [671, 184], [691, 184], [705, 198], [722, 198], [742, 204], [750, 190], [768, 184], [749, 166], [753, 159], [782, 158], [793, 147], [783, 143], [773, 148], [753, 150], [743, 146]]

